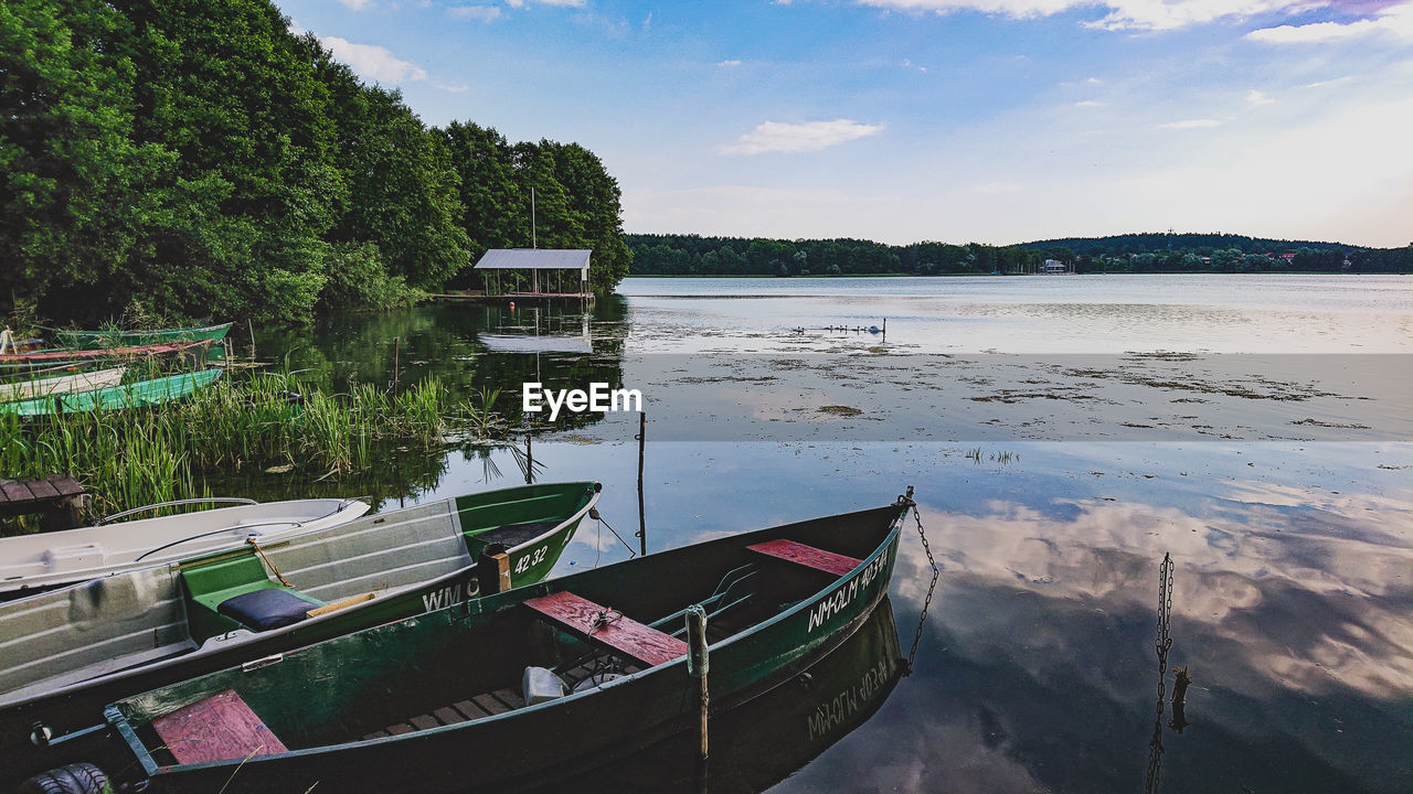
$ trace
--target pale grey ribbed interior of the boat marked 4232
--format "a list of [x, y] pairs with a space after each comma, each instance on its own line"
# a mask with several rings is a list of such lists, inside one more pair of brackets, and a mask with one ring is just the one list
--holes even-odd
[[461, 496], [10, 602], [0, 653], [17, 663], [0, 670], [0, 694], [54, 689], [431, 582], [492, 543], [514, 548], [564, 524], [595, 492], [581, 482]]

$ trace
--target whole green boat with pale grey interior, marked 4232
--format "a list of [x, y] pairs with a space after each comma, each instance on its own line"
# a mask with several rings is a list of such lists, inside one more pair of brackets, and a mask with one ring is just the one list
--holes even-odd
[[540, 581], [599, 489], [458, 496], [0, 603], [0, 791], [117, 698], [472, 598], [487, 550]]

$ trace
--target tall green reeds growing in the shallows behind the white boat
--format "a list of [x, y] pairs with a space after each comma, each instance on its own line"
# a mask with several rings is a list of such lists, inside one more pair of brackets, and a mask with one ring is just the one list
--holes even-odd
[[397, 396], [369, 384], [325, 394], [284, 373], [222, 379], [158, 408], [0, 417], [0, 470], [68, 472], [96, 509], [211, 496], [205, 476], [247, 468], [339, 476], [374, 466], [390, 448], [441, 449], [459, 407], [437, 381]]

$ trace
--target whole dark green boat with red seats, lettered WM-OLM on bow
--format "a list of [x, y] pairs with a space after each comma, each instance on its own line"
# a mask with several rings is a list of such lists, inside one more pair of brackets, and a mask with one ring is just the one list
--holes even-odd
[[[790, 681], [886, 595], [911, 499], [712, 540], [119, 699], [51, 747], [146, 791], [463, 791], [562, 778]], [[681, 640], [705, 613], [709, 651]], [[694, 663], [688, 664], [688, 656]], [[708, 658], [701, 660], [702, 656]]]

